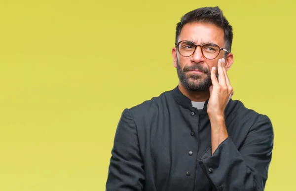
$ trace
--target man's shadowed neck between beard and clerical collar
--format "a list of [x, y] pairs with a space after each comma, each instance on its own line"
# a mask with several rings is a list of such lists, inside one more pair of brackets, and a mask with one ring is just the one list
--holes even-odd
[[184, 85], [179, 82], [179, 90], [188, 97], [193, 102], [204, 102], [210, 97], [209, 90], [205, 91], [191, 91], [184, 87]]

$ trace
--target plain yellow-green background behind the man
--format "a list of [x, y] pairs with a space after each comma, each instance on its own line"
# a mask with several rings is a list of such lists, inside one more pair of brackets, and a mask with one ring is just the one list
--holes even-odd
[[[265, 191], [294, 187], [295, 1], [0, 0], [0, 191], [103, 191], [124, 108], [178, 84], [186, 12], [233, 26], [233, 99], [268, 115]], [[293, 189], [292, 189], [293, 190]]]

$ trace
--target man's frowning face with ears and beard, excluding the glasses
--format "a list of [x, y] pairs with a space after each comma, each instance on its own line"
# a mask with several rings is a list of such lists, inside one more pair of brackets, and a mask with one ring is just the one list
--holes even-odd
[[[222, 28], [213, 24], [187, 23], [184, 25], [179, 40], [189, 40], [195, 44], [214, 43], [224, 48], [224, 32]], [[217, 58], [209, 60], [202, 55], [201, 47], [196, 47], [194, 54], [190, 57], [180, 55], [177, 48], [173, 48], [172, 55], [174, 67], [177, 68], [177, 74], [182, 85], [192, 91], [204, 91], [212, 85], [211, 70], [217, 67], [218, 60], [224, 57], [224, 51], [221, 51]], [[227, 55], [228, 57], [228, 55]], [[226, 70], [232, 64], [232, 59], [227, 60]], [[232, 58], [232, 54], [230, 56]], [[231, 64], [228, 66], [227, 65]], [[218, 77], [218, 70], [216, 70]]]

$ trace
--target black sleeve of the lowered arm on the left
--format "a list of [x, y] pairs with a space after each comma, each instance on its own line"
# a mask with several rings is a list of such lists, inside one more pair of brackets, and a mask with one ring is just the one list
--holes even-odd
[[106, 183], [106, 191], [143, 191], [144, 164], [135, 122], [125, 109], [118, 122]]

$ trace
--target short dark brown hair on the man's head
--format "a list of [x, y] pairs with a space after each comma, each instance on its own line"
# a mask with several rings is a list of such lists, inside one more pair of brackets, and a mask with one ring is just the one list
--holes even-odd
[[176, 43], [178, 42], [178, 38], [181, 34], [181, 30], [186, 23], [194, 23], [194, 22], [201, 22], [201, 23], [211, 23], [218, 27], [221, 27], [224, 31], [224, 41], [225, 41], [225, 49], [229, 52], [231, 51], [231, 44], [232, 44], [232, 26], [229, 25], [229, 22], [224, 17], [222, 10], [216, 7], [201, 7], [195, 10], [192, 10], [186, 13], [179, 23], [177, 23], [176, 27]]

